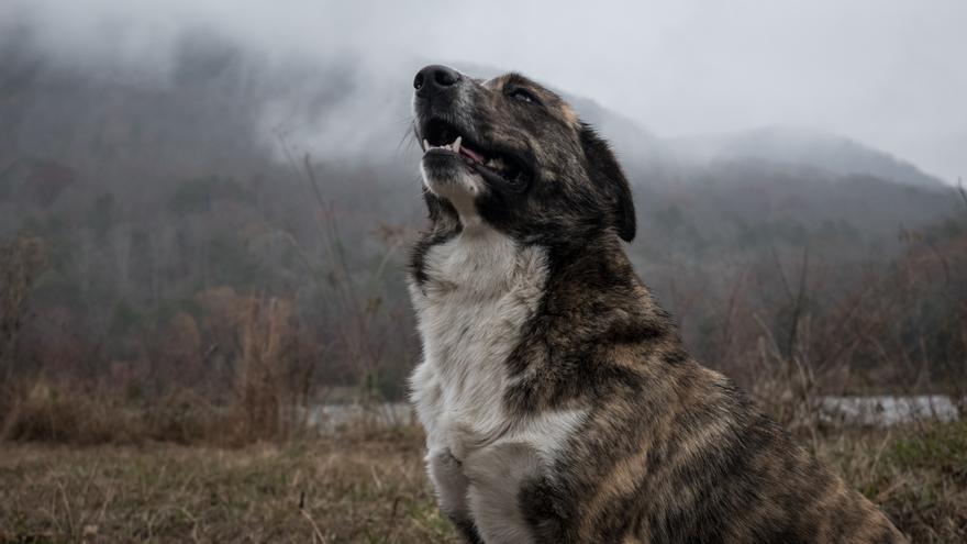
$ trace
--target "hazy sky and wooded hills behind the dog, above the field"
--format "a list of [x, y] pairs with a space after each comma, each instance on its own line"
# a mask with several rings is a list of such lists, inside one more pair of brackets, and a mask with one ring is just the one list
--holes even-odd
[[523, 71], [614, 143], [629, 252], [705, 364], [762, 396], [956, 390], [965, 20], [958, 1], [7, 0], [0, 364], [136, 398], [401, 398], [411, 81], [448, 63]]

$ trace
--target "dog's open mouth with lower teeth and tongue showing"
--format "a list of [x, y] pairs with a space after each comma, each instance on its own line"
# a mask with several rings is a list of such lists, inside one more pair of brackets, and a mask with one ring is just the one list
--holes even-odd
[[454, 154], [485, 178], [503, 181], [511, 187], [525, 187], [531, 181], [531, 169], [523, 159], [510, 153], [487, 149], [445, 121], [427, 123], [423, 130], [423, 152], [426, 155]]

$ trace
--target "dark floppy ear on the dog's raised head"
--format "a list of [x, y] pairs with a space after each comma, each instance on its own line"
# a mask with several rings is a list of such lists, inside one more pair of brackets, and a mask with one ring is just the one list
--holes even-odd
[[624, 177], [608, 142], [586, 123], [581, 123], [579, 131], [588, 176], [603, 189], [618, 235], [625, 242], [631, 242], [635, 235], [635, 213], [627, 178]]

